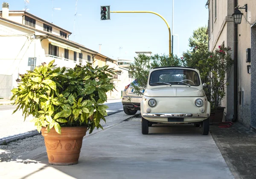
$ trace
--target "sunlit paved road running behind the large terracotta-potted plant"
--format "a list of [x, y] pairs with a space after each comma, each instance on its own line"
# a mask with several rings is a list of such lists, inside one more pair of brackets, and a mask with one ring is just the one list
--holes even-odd
[[[109, 100], [105, 102], [108, 105], [108, 115], [115, 114], [123, 111], [121, 99]], [[16, 109], [15, 105], [0, 105], [0, 139], [23, 134], [36, 129], [34, 123], [30, 122], [32, 116], [29, 116], [25, 122], [22, 116], [22, 111], [17, 111], [15, 114], [12, 112]], [[108, 121], [107, 121], [108, 122]], [[102, 125], [105, 125], [102, 123]]]

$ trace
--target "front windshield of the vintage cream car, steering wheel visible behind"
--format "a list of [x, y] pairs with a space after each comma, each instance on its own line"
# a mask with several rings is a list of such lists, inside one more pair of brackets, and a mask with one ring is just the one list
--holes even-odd
[[189, 69], [164, 69], [153, 71], [150, 75], [149, 85], [191, 85], [199, 86], [198, 73]]

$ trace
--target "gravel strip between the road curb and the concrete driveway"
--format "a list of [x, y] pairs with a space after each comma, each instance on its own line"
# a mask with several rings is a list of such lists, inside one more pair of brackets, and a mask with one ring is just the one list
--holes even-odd
[[[140, 111], [137, 112], [137, 114], [139, 113]], [[111, 125], [122, 122], [129, 117], [131, 116], [126, 115], [122, 111], [116, 114], [112, 114], [110, 116], [106, 116], [105, 119], [107, 123], [102, 120], [100, 124], [103, 126], [103, 128], [107, 128]], [[132, 118], [129, 120], [140, 121], [140, 118]], [[97, 132], [97, 130], [94, 130], [93, 133], [94, 132]], [[88, 134], [86, 136], [88, 136]], [[44, 137], [41, 134], [28, 137], [26, 139], [20, 139], [14, 142], [10, 142], [6, 145], [0, 145], [0, 162], [17, 160], [22, 154], [33, 151], [36, 148], [40, 147], [44, 147]]]

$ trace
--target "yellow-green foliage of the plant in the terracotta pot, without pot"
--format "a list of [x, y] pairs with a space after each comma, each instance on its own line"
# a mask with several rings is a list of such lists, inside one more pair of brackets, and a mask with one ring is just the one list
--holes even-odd
[[90, 133], [102, 128], [108, 106], [106, 92], [113, 90], [111, 77], [113, 68], [92, 67], [92, 64], [76, 65], [73, 69], [55, 68], [52, 60], [34, 71], [22, 76], [17, 88], [12, 90], [17, 109], [22, 109], [24, 120], [29, 115], [38, 131], [46, 127], [49, 132], [55, 128], [61, 134], [61, 127], [87, 126]]

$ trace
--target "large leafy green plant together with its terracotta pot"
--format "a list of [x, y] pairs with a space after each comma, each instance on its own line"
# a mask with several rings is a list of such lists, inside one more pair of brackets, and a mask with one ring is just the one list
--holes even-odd
[[[54, 165], [78, 163], [82, 139], [102, 128], [108, 106], [106, 92], [113, 90], [113, 68], [93, 68], [90, 63], [73, 69], [55, 68], [52, 60], [21, 78], [12, 90], [17, 110], [22, 109], [24, 120], [29, 115], [38, 132], [42, 132], [48, 160]], [[54, 129], [53, 129], [54, 128]]]

